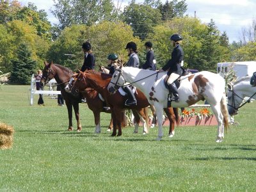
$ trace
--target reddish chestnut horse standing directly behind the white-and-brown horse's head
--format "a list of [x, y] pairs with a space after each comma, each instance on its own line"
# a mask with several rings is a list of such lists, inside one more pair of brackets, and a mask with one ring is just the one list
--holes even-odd
[[[76, 81], [74, 81], [72, 92], [76, 90], [76, 92], [83, 92], [85, 88], [91, 87], [95, 88], [97, 92], [103, 95], [104, 99], [108, 102], [109, 106], [111, 107], [112, 115], [113, 115], [113, 133], [111, 136], [116, 136], [116, 127], [118, 127], [118, 134], [117, 136], [122, 135], [122, 129], [120, 126], [120, 114], [121, 111], [124, 111], [124, 109], [132, 109], [133, 113], [135, 111], [139, 112], [140, 118], [137, 118], [136, 120], [136, 126], [134, 129], [134, 132], [138, 132], [138, 124], [140, 122], [143, 122], [143, 134], [145, 134], [148, 127], [148, 115], [144, 115], [143, 108], [148, 108], [148, 100], [145, 97], [145, 95], [140, 91], [136, 90], [135, 97], [138, 101], [137, 106], [131, 106], [127, 107], [124, 106], [124, 102], [126, 100], [126, 97], [123, 97], [119, 92], [116, 92], [115, 94], [109, 94], [107, 86], [111, 80], [111, 75], [94, 72], [94, 71], [86, 71], [86, 72], [80, 72], [77, 77]], [[168, 116], [168, 119], [170, 120], [170, 134], [174, 134], [174, 124], [175, 122], [179, 124], [179, 114], [177, 109], [173, 111], [172, 108], [164, 109], [166, 112], [166, 115]], [[134, 117], [136, 118], [136, 113], [134, 113]], [[141, 118], [142, 117], [142, 118]], [[161, 117], [162, 118], [162, 117]], [[146, 119], [146, 122], [145, 122]], [[147, 127], [145, 127], [147, 125]]]

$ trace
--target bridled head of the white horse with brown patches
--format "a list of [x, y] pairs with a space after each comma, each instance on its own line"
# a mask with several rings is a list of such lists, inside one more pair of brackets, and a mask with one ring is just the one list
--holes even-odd
[[122, 75], [122, 67], [121, 65], [119, 68], [116, 68], [111, 81], [108, 84], [108, 92], [113, 94], [120, 88], [120, 86], [123, 86], [126, 82], [124, 79], [124, 76]]

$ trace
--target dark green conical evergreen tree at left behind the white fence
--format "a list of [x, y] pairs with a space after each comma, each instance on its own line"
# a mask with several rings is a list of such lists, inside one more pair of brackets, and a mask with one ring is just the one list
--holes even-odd
[[27, 44], [22, 43], [17, 50], [17, 59], [12, 60], [13, 70], [10, 81], [18, 84], [29, 84], [35, 72], [36, 61], [31, 58], [31, 51]]

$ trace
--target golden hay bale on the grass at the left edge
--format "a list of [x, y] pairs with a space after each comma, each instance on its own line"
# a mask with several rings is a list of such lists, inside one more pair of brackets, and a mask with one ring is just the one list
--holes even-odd
[[6, 125], [0, 122], [0, 148], [11, 148], [13, 143], [14, 129], [10, 125]]

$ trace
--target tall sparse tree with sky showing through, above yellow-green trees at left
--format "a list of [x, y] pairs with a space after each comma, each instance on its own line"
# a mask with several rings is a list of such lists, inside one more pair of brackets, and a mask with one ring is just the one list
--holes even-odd
[[119, 12], [111, 0], [54, 0], [54, 3], [52, 13], [60, 21], [60, 29], [73, 24], [91, 26], [102, 20], [116, 20]]

